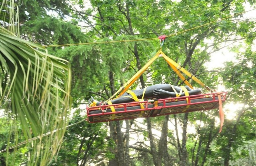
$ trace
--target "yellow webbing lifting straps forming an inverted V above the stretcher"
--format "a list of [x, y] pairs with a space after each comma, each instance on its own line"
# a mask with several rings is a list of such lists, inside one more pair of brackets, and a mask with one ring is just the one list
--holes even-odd
[[176, 74], [181, 78], [182, 81], [185, 82], [186, 85], [188, 85], [190, 88], [193, 89], [192, 85], [186, 80], [186, 78], [181, 74], [183, 72], [186, 74], [188, 77], [190, 77], [192, 80], [197, 82], [199, 85], [201, 85], [203, 88], [206, 88], [209, 91], [212, 91], [209, 87], [207, 87], [204, 83], [202, 83], [200, 80], [198, 80], [193, 74], [188, 72], [186, 69], [184, 69], [181, 65], [176, 63], [174, 60], [166, 56], [166, 54], [160, 50], [151, 58], [129, 81], [127, 81], [114, 95], [112, 95], [107, 101], [111, 100], [114, 96], [118, 94], [118, 97], [123, 95], [129, 87], [141, 76], [142, 73], [159, 57], [162, 56], [167, 63], [172, 67], [172, 69], [176, 72]]

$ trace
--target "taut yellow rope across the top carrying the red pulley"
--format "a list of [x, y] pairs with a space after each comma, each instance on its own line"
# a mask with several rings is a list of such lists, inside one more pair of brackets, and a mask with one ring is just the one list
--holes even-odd
[[[256, 8], [255, 8], [255, 9], [256, 9]], [[171, 37], [171, 36], [175, 36], [175, 35], [178, 35], [178, 34], [181, 34], [181, 33], [184, 33], [184, 32], [187, 32], [187, 31], [190, 31], [190, 30], [193, 30], [193, 29], [196, 29], [196, 28], [200, 28], [200, 27], [203, 27], [203, 26], [205, 26], [205, 25], [209, 25], [209, 24], [212, 24], [212, 23], [215, 23], [215, 22], [218, 22], [218, 21], [222, 21], [222, 20], [225, 20], [225, 19], [228, 19], [228, 18], [237, 16], [237, 15], [240, 15], [240, 14], [243, 14], [243, 13], [246, 13], [246, 12], [250, 12], [250, 11], [255, 10], [255, 9], [251, 9], [251, 10], [248, 10], [248, 11], [245, 11], [245, 12], [241, 12], [241, 13], [238, 13], [238, 14], [234, 14], [234, 15], [231, 15], [231, 16], [228, 16], [228, 17], [225, 17], [225, 18], [216, 20], [216, 21], [212, 21], [212, 22], [209, 22], [209, 23], [206, 23], [206, 24], [203, 24], [203, 25], [200, 25], [200, 26], [191, 28], [191, 29], [187, 29], [187, 30], [184, 30], [184, 31], [181, 31], [181, 32], [177, 32], [177, 33], [174, 33], [174, 34], [171, 34], [171, 35], [166, 36], [166, 38]], [[129, 42], [129, 41], [145, 41], [145, 40], [156, 40], [156, 39], [158, 39], [158, 38], [136, 39], [136, 40], [124, 40], [124, 41], [102, 41], [102, 42], [87, 42], [87, 43], [74, 43], [74, 44], [43, 45], [43, 47], [57, 47], [57, 46], [85, 45], [85, 44], [102, 44], [102, 43], [113, 43], [113, 42]]]

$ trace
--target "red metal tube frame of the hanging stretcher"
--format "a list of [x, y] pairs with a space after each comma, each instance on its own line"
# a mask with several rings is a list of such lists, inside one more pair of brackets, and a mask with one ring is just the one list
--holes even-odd
[[[227, 92], [218, 92], [218, 93], [221, 94], [221, 98], [222, 98], [221, 101], [222, 101], [222, 103], [225, 102]], [[212, 97], [212, 100], [191, 103], [192, 99], [203, 99], [203, 98], [209, 98], [209, 97]], [[90, 122], [89, 118], [90, 117], [94, 117], [94, 116], [100, 116], [100, 115], [103, 116], [103, 115], [121, 114], [121, 113], [129, 113], [129, 112], [141, 112], [141, 111], [159, 110], [159, 109], [165, 109], [165, 108], [172, 108], [172, 107], [179, 107], [179, 106], [188, 106], [188, 105], [197, 105], [197, 104], [213, 103], [213, 102], [216, 102], [216, 104], [218, 104], [219, 100], [216, 99], [215, 97], [217, 97], [217, 92], [215, 92], [215, 93], [208, 93], [208, 94], [191, 95], [191, 96], [173, 97], [173, 98], [166, 98], [166, 99], [158, 99], [158, 104], [163, 103], [163, 106], [157, 106], [157, 107], [152, 107], [152, 108], [148, 108], [148, 105], [152, 104], [152, 102], [149, 102], [149, 101], [119, 103], [119, 104], [113, 104], [113, 105], [102, 105], [102, 106], [94, 106], [94, 107], [88, 107], [86, 105], [87, 122], [89, 122], [89, 123], [99, 123], [98, 121]], [[186, 104], [178, 104], [178, 105], [166, 106], [166, 103], [168, 101], [169, 102], [176, 102], [175, 100], [177, 100], [177, 101], [184, 101], [184, 100], [187, 100], [186, 98], [188, 98], [188, 103], [186, 103]], [[144, 107], [145, 107], [144, 109], [127, 110], [127, 107], [138, 106], [140, 103], [142, 103], [144, 105]], [[103, 110], [109, 109], [110, 106], [116, 106], [117, 108], [124, 108], [124, 111], [118, 111], [118, 112], [104, 112], [103, 111]], [[213, 109], [213, 108], [207, 108], [207, 109], [202, 109], [202, 110], [210, 110], [210, 109]], [[95, 110], [101, 110], [102, 113], [91, 114], [91, 115], [89, 114], [90, 111], [95, 111]], [[202, 111], [202, 110], [196, 110], [196, 111]], [[194, 111], [186, 111], [186, 112], [194, 112]], [[122, 119], [115, 118], [115, 119], [103, 120], [103, 121], [100, 121], [100, 122], [120, 121], [120, 120], [126, 120], [126, 119], [146, 118], [146, 117], [157, 117], [157, 116], [170, 115], [170, 114], [180, 114], [180, 113], [185, 113], [185, 112], [173, 112], [173, 113], [166, 113], [166, 114], [162, 114], [162, 115], [152, 115], [152, 116], [148, 116], [147, 115], [147, 116], [142, 116], [142, 117], [132, 117], [132, 118], [122, 118]]]

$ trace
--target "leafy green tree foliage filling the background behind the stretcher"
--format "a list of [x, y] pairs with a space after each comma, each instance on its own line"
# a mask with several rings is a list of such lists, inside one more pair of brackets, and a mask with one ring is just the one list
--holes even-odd
[[[31, 1], [21, 5], [21, 34], [24, 39], [41, 44], [65, 44], [79, 42], [102, 42], [117, 40], [135, 40], [156, 38], [194, 28], [220, 18], [244, 11], [244, 0], [233, 1]], [[255, 1], [248, 1], [255, 6]], [[26, 11], [26, 12], [25, 12]], [[56, 14], [52, 16], [52, 14]], [[0, 15], [2, 17], [2, 15]], [[68, 16], [69, 23], [65, 17]], [[167, 133], [168, 159], [159, 161], [162, 165], [181, 164], [182, 154], [187, 154], [187, 165], [230, 165], [250, 164], [254, 162], [253, 151], [243, 148], [248, 141], [255, 139], [255, 20], [236, 16], [202, 26], [166, 39], [163, 51], [198, 79], [212, 89], [223, 84], [229, 90], [226, 103], [246, 103], [237, 110], [233, 120], [225, 119], [223, 131], [218, 134], [217, 110], [177, 115], [178, 134], [169, 128]], [[209, 72], [206, 62], [212, 53], [218, 51], [226, 42], [242, 41], [230, 49], [236, 53], [235, 61], [225, 63], [225, 67]], [[227, 45], [225, 45], [227, 46]], [[225, 47], [224, 46], [224, 47]], [[119, 89], [140, 67], [142, 67], [159, 49], [159, 41], [136, 41], [107, 44], [77, 45], [70, 47], [49, 47], [52, 54], [70, 61], [72, 68], [71, 95], [73, 107], [87, 103], [90, 96], [97, 100], [106, 100], [113, 91]], [[245, 51], [241, 51], [244, 48]], [[137, 51], [137, 52], [136, 52]], [[222, 61], [222, 59], [219, 59]], [[4, 77], [2, 77], [4, 78]], [[177, 75], [162, 58], [158, 58], [143, 74], [147, 85], [171, 83], [183, 85]], [[198, 87], [190, 78], [193, 86]], [[141, 81], [141, 80], [140, 80]], [[131, 89], [141, 87], [139, 80]], [[224, 112], [226, 112], [224, 110]], [[83, 117], [77, 110], [69, 124], [80, 121]], [[164, 117], [151, 119], [152, 127], [162, 130]], [[173, 116], [170, 121], [174, 124]], [[203, 125], [198, 125], [198, 121]], [[195, 127], [194, 133], [187, 133], [183, 125], [188, 122]], [[122, 124], [122, 123], [121, 123]], [[146, 126], [146, 121], [142, 122]], [[170, 126], [170, 123], [168, 123]], [[147, 127], [146, 127], [147, 128]], [[145, 151], [129, 148], [131, 165], [153, 165], [153, 150], [146, 128], [135, 125], [130, 130], [141, 135], [141, 140], [133, 146]], [[53, 165], [105, 165], [107, 161], [118, 161], [117, 140], [109, 137], [106, 124], [78, 124], [67, 129], [64, 143]], [[116, 128], [114, 129], [116, 133]], [[180, 134], [186, 133], [184, 137]], [[1, 131], [2, 132], [2, 131]], [[123, 134], [123, 133], [121, 133]], [[153, 133], [154, 135], [155, 133]], [[179, 149], [184, 145], [185, 149]], [[95, 137], [96, 136], [96, 137]], [[123, 136], [123, 146], [125, 138]], [[155, 147], [160, 144], [154, 135]], [[79, 151], [80, 149], [80, 151]], [[26, 148], [19, 149], [27, 153]], [[160, 149], [155, 149], [157, 152]], [[123, 150], [124, 151], [124, 150]], [[236, 153], [236, 151], [238, 151]], [[239, 152], [240, 151], [240, 152]], [[250, 154], [251, 153], [251, 154]], [[12, 153], [10, 154], [12, 155]], [[104, 159], [102, 159], [102, 156]], [[161, 156], [161, 154], [157, 154]], [[156, 158], [158, 158], [156, 157]]]

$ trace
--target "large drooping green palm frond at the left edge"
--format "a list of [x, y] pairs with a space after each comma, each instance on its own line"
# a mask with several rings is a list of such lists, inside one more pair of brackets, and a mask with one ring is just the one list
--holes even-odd
[[71, 82], [68, 61], [0, 27], [0, 70], [0, 110], [4, 103], [11, 105], [13, 120], [16, 126], [21, 125], [25, 138], [57, 129], [27, 144], [29, 165], [49, 164], [58, 153], [67, 124]]

